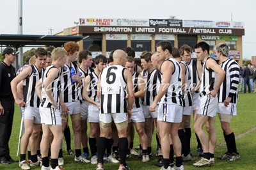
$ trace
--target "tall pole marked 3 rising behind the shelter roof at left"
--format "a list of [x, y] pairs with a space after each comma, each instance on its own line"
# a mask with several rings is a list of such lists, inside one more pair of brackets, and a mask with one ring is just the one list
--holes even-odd
[[[23, 17], [22, 17], [22, 0], [19, 0], [18, 5], [18, 35], [22, 35], [22, 26], [23, 26]], [[23, 65], [23, 49], [22, 47], [19, 48], [19, 59], [17, 69], [22, 67]]]

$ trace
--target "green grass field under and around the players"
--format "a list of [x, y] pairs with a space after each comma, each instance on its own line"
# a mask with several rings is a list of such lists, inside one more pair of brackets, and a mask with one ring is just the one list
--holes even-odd
[[[231, 128], [234, 131], [236, 137], [239, 136], [239, 139], [236, 140], [237, 150], [241, 155], [241, 160], [236, 162], [227, 162], [225, 160], [217, 160], [215, 158], [215, 163], [211, 167], [193, 167], [193, 163], [195, 160], [199, 158], [193, 157], [194, 160], [190, 162], [184, 163], [185, 169], [256, 169], [256, 161], [255, 161], [255, 150], [256, 150], [256, 107], [255, 107], [255, 93], [239, 93], [239, 102], [237, 104], [237, 114], [238, 116], [234, 116], [231, 121]], [[19, 128], [20, 128], [20, 111], [19, 107], [15, 109], [15, 116], [13, 120], [13, 130], [12, 137], [10, 139], [10, 151], [11, 156], [14, 159], [19, 159], [16, 157], [17, 146], [19, 142]], [[250, 132], [252, 131], [252, 132]], [[217, 146], [215, 150], [214, 157], [218, 157], [219, 155], [225, 153], [227, 150], [225, 141], [223, 138], [223, 132], [220, 127], [220, 121], [218, 120], [218, 116], [216, 117], [216, 132], [217, 132]], [[153, 155], [155, 155], [156, 151], [156, 138], [155, 134], [152, 141], [152, 151]], [[72, 138], [71, 138], [72, 139]], [[1, 140], [1, 139], [0, 139]], [[138, 146], [138, 135], [136, 135], [134, 139], [134, 146]], [[72, 148], [74, 148], [74, 143], [72, 142]], [[191, 137], [191, 151], [193, 155], [196, 155], [196, 137], [194, 132], [192, 132]], [[67, 155], [66, 151], [63, 151], [65, 158], [64, 169], [95, 169], [95, 166], [92, 164], [82, 164], [74, 162], [74, 157]], [[254, 155], [254, 156], [253, 156]], [[127, 164], [131, 169], [160, 169], [160, 167], [153, 166], [158, 158], [152, 157], [150, 162], [143, 163], [141, 160], [134, 158], [132, 156], [131, 159], [127, 160]], [[118, 164], [105, 163], [105, 169], [118, 169]], [[9, 165], [0, 164], [0, 170], [2, 169], [20, 169], [18, 163], [13, 163]], [[32, 167], [31, 169], [40, 169], [40, 167]]]

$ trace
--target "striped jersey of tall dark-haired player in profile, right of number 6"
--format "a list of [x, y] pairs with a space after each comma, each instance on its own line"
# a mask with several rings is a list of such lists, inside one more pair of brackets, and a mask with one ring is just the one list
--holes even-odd
[[[172, 62], [174, 65], [174, 70], [172, 73], [172, 79], [170, 80], [170, 84], [168, 86], [168, 91], [161, 98], [160, 103], [161, 104], [177, 104], [177, 105], [183, 106], [182, 90], [181, 90], [181, 87], [182, 87], [181, 67], [179, 63], [173, 58], [167, 58], [164, 62]], [[161, 79], [163, 79], [163, 74], [161, 72], [160, 72], [160, 75], [161, 75]]]

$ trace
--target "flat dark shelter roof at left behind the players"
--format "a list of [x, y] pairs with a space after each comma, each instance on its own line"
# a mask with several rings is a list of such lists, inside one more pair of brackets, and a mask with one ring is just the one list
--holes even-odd
[[58, 35], [0, 35], [0, 45], [15, 47], [50, 46], [62, 47], [66, 42], [78, 42], [83, 36]]

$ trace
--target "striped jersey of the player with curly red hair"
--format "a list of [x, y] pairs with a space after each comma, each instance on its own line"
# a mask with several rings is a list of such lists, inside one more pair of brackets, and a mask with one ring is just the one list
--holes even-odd
[[61, 83], [61, 96], [65, 103], [76, 102], [79, 100], [78, 92], [80, 91], [77, 83], [71, 82], [70, 70], [74, 68], [76, 73], [78, 72], [78, 66], [76, 63], [70, 63], [70, 67], [65, 64], [61, 69], [60, 83]]

